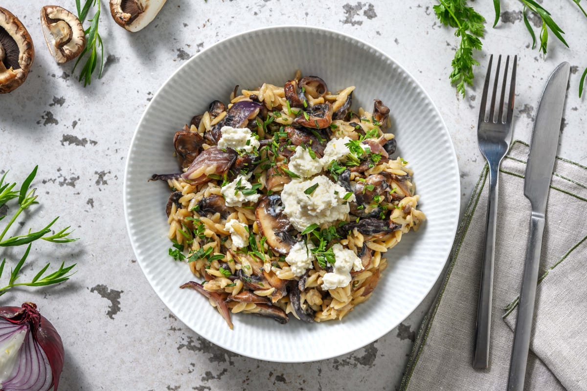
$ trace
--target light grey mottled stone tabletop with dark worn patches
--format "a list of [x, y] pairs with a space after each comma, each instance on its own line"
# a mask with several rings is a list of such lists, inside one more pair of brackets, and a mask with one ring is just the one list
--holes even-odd
[[[210, 344], [177, 321], [156, 297], [134, 259], [122, 206], [127, 149], [153, 94], [191, 56], [235, 33], [267, 25], [312, 25], [338, 30], [379, 47], [429, 92], [450, 130], [461, 169], [464, 208], [483, 157], [476, 125], [480, 84], [490, 53], [518, 54], [514, 137], [529, 141], [532, 114], [545, 78], [562, 60], [573, 66], [559, 154], [585, 164], [585, 102], [577, 96], [587, 66], [587, 21], [572, 2], [548, 7], [571, 49], [551, 36], [548, 58], [532, 50], [517, 1], [502, 1], [501, 23], [487, 32], [478, 55], [475, 87], [457, 96], [447, 81], [458, 42], [432, 13], [435, 1], [168, 1], [157, 19], [131, 34], [102, 4], [100, 31], [106, 45], [102, 79], [84, 88], [73, 64], [58, 66], [45, 47], [39, 1], [6, 0], [35, 42], [29, 79], [0, 96], [0, 172], [21, 180], [39, 164], [35, 183], [41, 204], [29, 213], [40, 226], [61, 216], [79, 242], [35, 244], [23, 279], [45, 261], [77, 263], [77, 274], [52, 288], [15, 290], [2, 305], [34, 301], [62, 335], [66, 365], [63, 390], [394, 390], [399, 385], [420, 319], [431, 295], [397, 329], [356, 352], [315, 363], [262, 362]], [[75, 2], [62, 2], [75, 9]], [[491, 2], [474, 2], [493, 18]], [[545, 5], [546, 6], [546, 5]], [[532, 19], [532, 23], [536, 21]], [[262, 59], [259, 53], [259, 59]], [[264, 55], [271, 55], [268, 48]], [[238, 66], [238, 60], [235, 60]], [[262, 66], [262, 64], [260, 64]], [[584, 100], [584, 99], [583, 99]], [[393, 110], [393, 108], [392, 108]], [[441, 167], [439, 166], [439, 169]], [[160, 222], [153, 222], [160, 223]], [[28, 229], [26, 225], [22, 229]], [[23, 249], [0, 252], [18, 259]], [[6, 276], [0, 280], [4, 286]], [[278, 344], [279, 341], [259, 343]], [[314, 349], [319, 347], [301, 346]]]

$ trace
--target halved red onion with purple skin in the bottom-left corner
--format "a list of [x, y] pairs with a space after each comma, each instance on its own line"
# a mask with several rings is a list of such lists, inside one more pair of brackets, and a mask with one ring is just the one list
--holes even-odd
[[0, 389], [56, 391], [63, 369], [63, 343], [32, 302], [0, 307]]

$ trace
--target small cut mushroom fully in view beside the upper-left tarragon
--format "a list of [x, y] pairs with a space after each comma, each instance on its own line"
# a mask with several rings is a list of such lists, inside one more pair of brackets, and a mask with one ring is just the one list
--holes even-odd
[[59, 64], [75, 59], [86, 47], [82, 23], [65, 8], [58, 5], [41, 8], [41, 26], [49, 52]]

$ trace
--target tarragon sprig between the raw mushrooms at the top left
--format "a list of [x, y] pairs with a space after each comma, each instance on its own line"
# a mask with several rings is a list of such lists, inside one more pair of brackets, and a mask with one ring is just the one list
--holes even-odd
[[98, 48], [100, 49], [100, 73], [98, 79], [102, 77], [102, 69], [104, 68], [104, 45], [102, 43], [102, 37], [100, 37], [100, 34], [98, 33], [98, 23], [100, 22], [100, 0], [86, 0], [83, 7], [80, 4], [80, 0], [76, 0], [75, 3], [77, 7], [77, 18], [79, 18], [79, 21], [82, 23], [86, 20], [90, 8], [92, 6], [97, 6], [96, 13], [92, 19], [89, 19], [89, 22], [92, 22], [92, 24], [85, 30], [86, 47], [83, 49], [79, 57], [77, 57], [77, 61], [73, 66], [73, 70], [75, 71], [77, 64], [87, 54], [86, 63], [83, 65], [82, 71], [79, 74], [79, 81], [82, 81], [83, 79], [83, 86], [86, 87], [88, 84], [92, 83], [92, 73], [96, 70], [98, 62]]

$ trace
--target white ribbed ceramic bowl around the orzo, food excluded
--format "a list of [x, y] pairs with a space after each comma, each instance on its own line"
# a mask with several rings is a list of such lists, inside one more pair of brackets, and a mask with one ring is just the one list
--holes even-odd
[[[322, 77], [336, 91], [356, 86], [353, 108], [370, 111], [373, 99], [390, 107], [400, 155], [414, 170], [421, 210], [428, 220], [387, 253], [372, 297], [343, 321], [288, 324], [232, 315], [230, 330], [208, 300], [179, 286], [194, 280], [167, 254], [166, 184], [154, 173], [177, 172], [173, 134], [214, 99], [227, 101], [235, 84], [282, 85], [296, 69]], [[232, 352], [280, 362], [308, 362], [369, 344], [402, 322], [426, 297], [446, 263], [457, 228], [460, 182], [457, 159], [440, 113], [416, 80], [365, 42], [337, 32], [274, 27], [242, 33], [203, 50], [163, 84], [147, 107], [131, 143], [124, 175], [124, 212], [130, 240], [147, 280], [167, 307], [195, 332]], [[161, 335], [164, 330], [161, 330]]]

